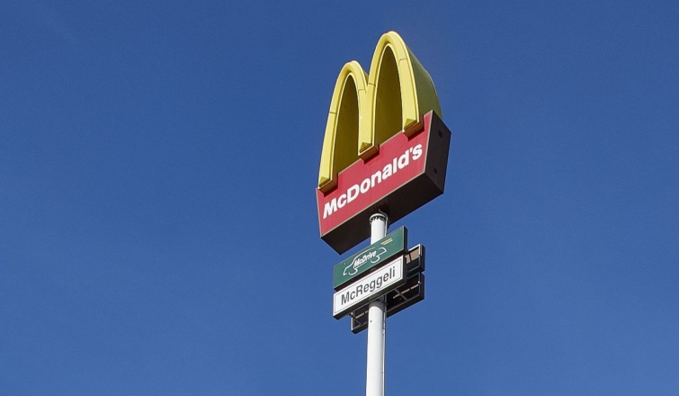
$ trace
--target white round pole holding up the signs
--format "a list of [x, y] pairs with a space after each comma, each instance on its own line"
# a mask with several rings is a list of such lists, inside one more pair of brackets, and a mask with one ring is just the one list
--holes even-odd
[[[384, 213], [371, 216], [371, 243], [387, 235], [389, 219]], [[368, 308], [368, 358], [366, 362], [365, 396], [384, 396], [384, 352], [387, 333], [387, 308], [382, 299]]]

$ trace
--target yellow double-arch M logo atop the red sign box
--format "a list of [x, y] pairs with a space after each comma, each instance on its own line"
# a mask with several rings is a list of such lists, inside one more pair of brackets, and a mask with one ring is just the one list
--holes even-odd
[[378, 153], [380, 144], [404, 131], [417, 131], [425, 112], [441, 116], [432, 77], [396, 31], [380, 37], [370, 75], [355, 60], [342, 67], [327, 116], [318, 172], [326, 193], [337, 174], [357, 159]]

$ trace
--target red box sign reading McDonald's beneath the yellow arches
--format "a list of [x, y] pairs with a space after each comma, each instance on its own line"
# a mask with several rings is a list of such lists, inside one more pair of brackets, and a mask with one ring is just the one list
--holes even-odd
[[333, 190], [317, 190], [321, 238], [338, 253], [370, 236], [371, 214], [385, 211], [396, 221], [443, 193], [451, 131], [435, 112], [422, 123], [422, 130], [397, 133], [377, 155], [340, 172]]

